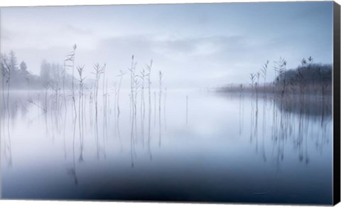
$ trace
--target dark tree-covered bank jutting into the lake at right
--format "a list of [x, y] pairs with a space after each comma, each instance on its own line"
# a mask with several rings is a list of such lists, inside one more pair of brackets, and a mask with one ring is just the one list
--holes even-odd
[[[269, 70], [274, 70], [274, 80], [266, 80]], [[249, 74], [249, 84], [230, 84], [217, 89], [220, 92], [273, 92], [279, 94], [316, 93], [330, 94], [332, 89], [332, 65], [313, 63], [313, 58], [303, 58], [296, 68], [287, 68], [284, 58], [261, 65], [256, 73]]]

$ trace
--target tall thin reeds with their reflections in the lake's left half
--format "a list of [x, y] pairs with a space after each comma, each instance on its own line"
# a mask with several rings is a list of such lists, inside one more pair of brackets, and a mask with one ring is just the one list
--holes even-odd
[[[167, 87], [163, 86], [163, 73], [161, 72], [161, 70], [158, 71], [158, 81], [156, 81], [155, 87], [152, 88], [151, 75], [153, 72], [153, 60], [145, 65], [144, 68], [138, 70], [136, 68], [137, 62], [134, 60], [134, 55], [132, 55], [130, 68], [127, 71], [119, 70], [117, 80], [115, 80], [114, 82], [114, 103], [111, 104], [110, 95], [112, 94], [112, 92], [110, 92], [110, 90], [108, 89], [109, 81], [107, 77], [109, 73], [107, 73], [106, 71], [107, 65], [99, 65], [99, 63], [95, 63], [93, 65], [92, 74], [94, 75], [94, 82], [92, 85], [90, 85], [89, 81], [85, 81], [89, 80], [85, 78], [85, 65], [78, 65], [78, 63], [76, 63], [75, 61], [76, 48], [77, 46], [74, 45], [72, 47], [72, 51], [65, 55], [63, 67], [58, 66], [58, 71], [53, 71], [55, 79], [46, 78], [41, 83], [41, 94], [43, 94], [41, 102], [39, 96], [40, 93], [38, 93], [38, 101], [37, 99], [31, 97], [31, 95], [28, 95], [27, 102], [31, 105], [34, 105], [38, 109], [38, 111], [41, 111], [45, 114], [46, 133], [52, 134], [53, 140], [55, 139], [55, 134], [57, 134], [58, 136], [63, 134], [62, 136], [64, 138], [65, 159], [67, 158], [68, 154], [66, 149], [67, 142], [72, 142], [72, 167], [71, 169], [69, 169], [69, 173], [75, 177], [75, 182], [77, 183], [76, 156], [78, 156], [78, 161], [84, 160], [84, 142], [85, 137], [87, 137], [86, 116], [89, 115], [90, 119], [88, 120], [90, 120], [90, 126], [93, 129], [91, 130], [91, 133], [94, 134], [94, 140], [97, 147], [97, 158], [102, 155], [101, 153], [103, 153], [105, 157], [106, 139], [109, 139], [107, 133], [107, 124], [111, 124], [110, 115], [112, 110], [114, 110], [114, 127], [115, 130], [117, 129], [117, 132], [115, 132], [115, 134], [117, 134], [119, 139], [121, 139], [119, 135], [119, 116], [122, 112], [120, 108], [120, 96], [121, 85], [123, 85], [122, 83], [124, 82], [124, 77], [127, 76], [126, 74], [129, 73], [130, 75], [129, 96], [131, 102], [129, 109], [131, 111], [131, 166], [134, 166], [134, 156], [136, 156], [136, 144], [141, 143], [142, 147], [147, 144], [148, 154], [150, 155], [150, 159], [152, 159], [152, 112], [154, 112], [154, 126], [156, 125], [156, 122], [158, 122], [158, 145], [161, 146], [161, 132], [163, 129], [166, 130], [166, 102], [168, 89]], [[54, 68], [52, 70], [57, 69]], [[2, 78], [4, 80], [2, 82], [2, 96], [4, 103], [6, 103], [4, 104], [4, 107], [7, 108], [7, 110], [4, 111], [8, 113], [9, 117], [10, 113], [8, 106], [11, 85], [11, 65], [6, 61], [1, 60], [1, 71]], [[50, 73], [50, 69], [48, 71], [48, 73]], [[77, 75], [78, 77], [75, 78], [75, 75]], [[67, 90], [67, 88], [70, 88], [70, 91]], [[100, 100], [99, 93], [102, 93], [102, 100]], [[153, 93], [154, 103], [152, 103]], [[72, 114], [71, 112], [67, 114], [69, 107], [71, 107]], [[154, 110], [152, 110], [153, 107]], [[164, 117], [162, 117], [161, 115], [162, 107]], [[146, 112], [148, 112], [148, 116], [146, 116]], [[101, 139], [101, 136], [99, 135], [101, 134], [99, 132], [101, 129], [99, 129], [98, 127], [98, 119], [100, 116], [103, 117], [103, 139]], [[48, 119], [48, 117], [50, 119]], [[69, 117], [72, 117], [72, 139], [67, 139], [67, 135], [65, 132], [65, 129], [67, 129], [67, 118]], [[164, 125], [161, 122], [161, 118], [163, 118], [162, 122], [164, 123]], [[146, 119], [148, 119], [148, 124], [145, 124]], [[9, 120], [9, 118], [7, 120]], [[141, 120], [141, 127], [137, 124], [137, 120]], [[51, 126], [51, 128], [48, 129], [48, 126]], [[77, 139], [78, 136], [79, 139]], [[145, 136], [148, 137], [148, 139], [146, 139]], [[79, 154], [77, 154], [78, 152]]]

